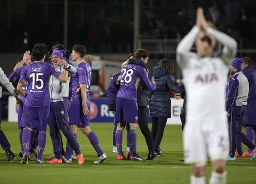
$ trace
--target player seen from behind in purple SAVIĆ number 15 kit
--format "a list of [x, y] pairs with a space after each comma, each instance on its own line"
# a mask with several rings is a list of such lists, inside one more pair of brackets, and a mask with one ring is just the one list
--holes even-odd
[[[46, 146], [46, 129], [49, 118], [49, 77], [52, 74], [61, 82], [67, 82], [68, 72], [64, 69], [63, 74], [55, 70], [55, 67], [44, 63], [47, 54], [45, 44], [36, 44], [32, 49], [32, 58], [35, 60], [22, 71], [17, 90], [26, 97], [22, 118], [24, 129], [22, 135], [23, 157], [22, 164], [28, 163], [28, 148], [30, 142], [31, 129], [36, 127], [39, 131], [38, 136], [38, 157], [36, 162], [44, 164], [43, 151]], [[23, 85], [27, 85], [27, 91], [24, 91]]]

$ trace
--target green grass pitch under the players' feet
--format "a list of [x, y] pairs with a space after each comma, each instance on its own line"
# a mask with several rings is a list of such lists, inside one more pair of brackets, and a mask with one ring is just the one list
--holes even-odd
[[[8, 164], [5, 152], [0, 150], [0, 183], [189, 183], [191, 169], [180, 160], [183, 159], [182, 132], [180, 126], [166, 126], [161, 148], [163, 157], [154, 161], [118, 161], [112, 153], [112, 124], [91, 123], [108, 159], [102, 164], [93, 164], [96, 152], [85, 135], [78, 133], [80, 148], [85, 156], [85, 164], [20, 164], [18, 152], [19, 130], [16, 123], [3, 121], [1, 128], [5, 132], [16, 160]], [[138, 153], [146, 158], [147, 146], [141, 131], [137, 137]], [[123, 150], [126, 146], [126, 132], [123, 134]], [[200, 154], [200, 152], [199, 152]], [[52, 155], [52, 143], [47, 132], [47, 143], [43, 158], [46, 161]], [[256, 160], [249, 158], [228, 162], [228, 183], [256, 183]], [[210, 177], [210, 164], [207, 165], [207, 183]]]

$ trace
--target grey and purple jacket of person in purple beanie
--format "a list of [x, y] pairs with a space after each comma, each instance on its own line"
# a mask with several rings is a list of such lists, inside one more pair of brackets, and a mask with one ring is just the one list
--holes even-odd
[[247, 105], [249, 83], [241, 70], [234, 72], [228, 82], [228, 95], [226, 97], [226, 111], [232, 106]]

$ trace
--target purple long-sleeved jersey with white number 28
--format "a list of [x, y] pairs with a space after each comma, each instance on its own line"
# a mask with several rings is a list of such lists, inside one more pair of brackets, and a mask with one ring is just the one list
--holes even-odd
[[143, 80], [148, 91], [154, 91], [156, 89], [155, 84], [152, 84], [148, 79], [146, 69], [139, 65], [129, 63], [122, 67], [121, 74], [122, 79], [120, 89], [117, 93], [118, 98], [137, 101], [139, 78]]

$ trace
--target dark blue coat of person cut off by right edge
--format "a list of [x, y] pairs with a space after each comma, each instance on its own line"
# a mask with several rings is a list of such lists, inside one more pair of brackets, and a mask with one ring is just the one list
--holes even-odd
[[247, 66], [243, 69], [243, 74], [249, 82], [249, 94], [243, 125], [256, 126], [256, 70], [253, 66]]

